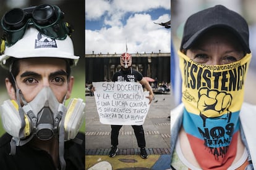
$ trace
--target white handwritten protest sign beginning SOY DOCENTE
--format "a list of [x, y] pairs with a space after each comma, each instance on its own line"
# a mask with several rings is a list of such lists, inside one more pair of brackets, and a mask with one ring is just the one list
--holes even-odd
[[93, 82], [95, 101], [103, 124], [141, 125], [150, 107], [140, 83]]

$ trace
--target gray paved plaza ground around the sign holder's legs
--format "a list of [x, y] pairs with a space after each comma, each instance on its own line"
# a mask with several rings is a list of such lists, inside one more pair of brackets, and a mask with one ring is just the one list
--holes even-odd
[[139, 156], [140, 150], [131, 126], [122, 126], [119, 131], [119, 151], [116, 157], [109, 158], [111, 127], [100, 123], [94, 97], [87, 96], [85, 103], [85, 166], [87, 169], [97, 169], [95, 168], [98, 166], [97, 163], [104, 166], [109, 163], [112, 169], [118, 169], [119, 166], [122, 166], [121, 168], [169, 168], [170, 119], [168, 116], [171, 108], [174, 107], [170, 94], [155, 94], [143, 124], [146, 150], [149, 155], [147, 159]]

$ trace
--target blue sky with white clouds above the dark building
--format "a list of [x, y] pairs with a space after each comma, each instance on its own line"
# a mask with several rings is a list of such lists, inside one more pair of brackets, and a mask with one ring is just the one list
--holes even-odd
[[85, 54], [170, 52], [170, 0], [86, 0]]

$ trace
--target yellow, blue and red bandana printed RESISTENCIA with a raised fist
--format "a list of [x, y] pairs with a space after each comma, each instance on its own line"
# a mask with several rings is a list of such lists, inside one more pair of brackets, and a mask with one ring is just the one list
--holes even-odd
[[202, 65], [181, 51], [183, 127], [202, 169], [228, 169], [236, 156], [239, 112], [251, 54], [226, 65]]

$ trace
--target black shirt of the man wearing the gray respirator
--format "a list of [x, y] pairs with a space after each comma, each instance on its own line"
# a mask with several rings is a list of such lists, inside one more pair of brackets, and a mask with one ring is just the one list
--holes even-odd
[[[85, 169], [85, 135], [79, 132], [77, 138], [83, 141], [81, 145], [72, 140], [65, 142], [66, 170]], [[7, 133], [0, 138], [1, 170], [56, 170], [51, 155], [27, 144], [16, 147], [16, 154], [9, 155], [11, 139]]]

